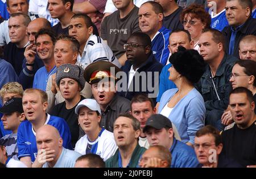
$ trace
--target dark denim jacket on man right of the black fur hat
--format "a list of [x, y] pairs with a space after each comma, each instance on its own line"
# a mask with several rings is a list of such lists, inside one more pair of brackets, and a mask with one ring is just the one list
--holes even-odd
[[229, 79], [237, 60], [236, 57], [225, 54], [214, 77], [212, 77], [210, 66], [207, 65], [199, 83], [196, 84], [197, 90], [203, 95], [207, 110], [224, 111], [228, 107], [229, 92], [232, 90]]

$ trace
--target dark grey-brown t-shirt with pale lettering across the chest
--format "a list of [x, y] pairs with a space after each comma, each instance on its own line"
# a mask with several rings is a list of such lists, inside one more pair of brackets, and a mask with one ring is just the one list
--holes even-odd
[[114, 55], [119, 59], [125, 49], [123, 44], [134, 32], [141, 32], [138, 20], [139, 8], [134, 6], [125, 18], [120, 19], [119, 10], [106, 16], [101, 23], [101, 38], [108, 41], [109, 47]]

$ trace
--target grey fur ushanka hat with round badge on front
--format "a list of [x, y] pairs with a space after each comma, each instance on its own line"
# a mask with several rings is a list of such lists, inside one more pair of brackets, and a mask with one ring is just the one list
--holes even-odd
[[81, 90], [84, 89], [84, 69], [81, 66], [73, 64], [60, 65], [56, 72], [56, 84], [58, 87], [60, 87], [60, 80], [63, 78], [76, 80], [80, 84]]

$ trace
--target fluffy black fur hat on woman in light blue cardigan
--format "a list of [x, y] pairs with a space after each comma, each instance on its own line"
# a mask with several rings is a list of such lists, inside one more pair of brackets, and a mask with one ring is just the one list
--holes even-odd
[[203, 57], [194, 49], [178, 47], [178, 51], [173, 53], [169, 59], [176, 71], [187, 78], [192, 84], [197, 83], [205, 72], [205, 62]]

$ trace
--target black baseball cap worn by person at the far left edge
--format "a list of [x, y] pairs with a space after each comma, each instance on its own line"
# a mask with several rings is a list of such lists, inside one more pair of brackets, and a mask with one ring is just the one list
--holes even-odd
[[22, 98], [11, 98], [0, 108], [0, 113], [11, 114], [14, 112], [24, 113], [22, 107]]

